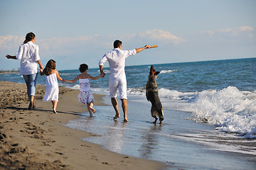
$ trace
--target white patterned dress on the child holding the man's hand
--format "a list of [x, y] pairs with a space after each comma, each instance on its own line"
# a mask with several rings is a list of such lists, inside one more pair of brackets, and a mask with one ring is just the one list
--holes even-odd
[[92, 103], [95, 101], [92, 91], [90, 89], [89, 79], [80, 79], [79, 75], [80, 91], [78, 94], [78, 101], [82, 104]]

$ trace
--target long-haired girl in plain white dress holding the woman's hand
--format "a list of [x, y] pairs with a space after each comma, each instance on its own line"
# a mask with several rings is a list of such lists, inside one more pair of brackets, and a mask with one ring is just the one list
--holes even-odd
[[[58, 80], [65, 82], [59, 74], [56, 68], [56, 62], [49, 60], [45, 69], [40, 69], [40, 74], [46, 74], [46, 94], [43, 96], [43, 101], [51, 101], [53, 103], [53, 113], [56, 112], [58, 103]], [[57, 80], [58, 79], [58, 80]]]

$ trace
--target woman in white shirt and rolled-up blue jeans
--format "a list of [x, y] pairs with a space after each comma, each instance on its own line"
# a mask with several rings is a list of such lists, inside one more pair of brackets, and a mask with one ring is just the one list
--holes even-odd
[[35, 45], [36, 35], [28, 33], [26, 40], [20, 45], [18, 53], [14, 56], [6, 55], [8, 59], [21, 60], [20, 73], [26, 82], [28, 99], [30, 101], [28, 109], [35, 108], [34, 98], [36, 94], [36, 78], [38, 76], [38, 64], [40, 69], [43, 65], [38, 54], [39, 47]]

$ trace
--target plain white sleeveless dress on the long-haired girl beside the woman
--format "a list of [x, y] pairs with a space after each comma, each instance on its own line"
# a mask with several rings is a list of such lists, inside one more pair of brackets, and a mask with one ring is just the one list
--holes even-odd
[[58, 101], [58, 80], [56, 73], [46, 76], [46, 94], [43, 101]]

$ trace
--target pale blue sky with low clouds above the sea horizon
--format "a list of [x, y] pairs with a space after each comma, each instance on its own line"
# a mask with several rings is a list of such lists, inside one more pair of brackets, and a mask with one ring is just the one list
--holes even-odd
[[[255, 0], [0, 0], [0, 69], [18, 69], [16, 55], [36, 34], [41, 63], [57, 69], [97, 68], [122, 40], [123, 50], [158, 45], [126, 65], [256, 57]], [[108, 64], [105, 64], [108, 67]]]

